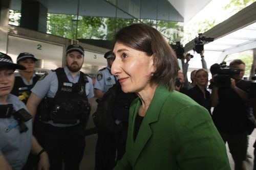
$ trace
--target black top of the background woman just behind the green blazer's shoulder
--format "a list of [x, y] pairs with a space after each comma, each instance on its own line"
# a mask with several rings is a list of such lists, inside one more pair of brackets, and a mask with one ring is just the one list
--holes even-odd
[[210, 100], [210, 92], [205, 89], [205, 98], [203, 91], [198, 87], [198, 85], [195, 85], [193, 88], [188, 90], [187, 95], [192, 98], [194, 101], [196, 101], [199, 105], [205, 107], [209, 113], [211, 113], [211, 100]]

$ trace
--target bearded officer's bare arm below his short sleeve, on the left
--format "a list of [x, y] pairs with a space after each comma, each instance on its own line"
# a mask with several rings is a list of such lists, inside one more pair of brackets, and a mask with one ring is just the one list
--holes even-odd
[[35, 117], [35, 114], [36, 114], [37, 106], [39, 105], [41, 100], [42, 99], [39, 98], [39, 96], [37, 96], [33, 92], [29, 96], [29, 99], [28, 99], [28, 102], [27, 102], [27, 108], [29, 110], [29, 113], [32, 115], [33, 120], [34, 120], [34, 117]]

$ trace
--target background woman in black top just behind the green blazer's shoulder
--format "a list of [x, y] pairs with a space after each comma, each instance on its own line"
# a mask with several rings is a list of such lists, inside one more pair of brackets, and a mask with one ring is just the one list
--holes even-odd
[[205, 107], [211, 115], [210, 92], [205, 88], [208, 83], [208, 72], [204, 69], [198, 69], [195, 74], [196, 85], [188, 90], [187, 95], [196, 101], [199, 105]]

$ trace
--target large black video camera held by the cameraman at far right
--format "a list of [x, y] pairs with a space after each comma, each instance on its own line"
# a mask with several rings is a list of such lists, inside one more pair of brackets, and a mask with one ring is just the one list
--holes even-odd
[[216, 87], [230, 87], [230, 79], [233, 75], [240, 74], [241, 69], [230, 68], [226, 65], [226, 62], [219, 64], [216, 68], [217, 75], [214, 77], [214, 85]]

